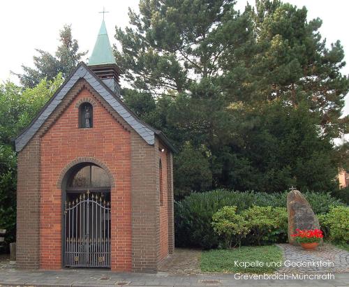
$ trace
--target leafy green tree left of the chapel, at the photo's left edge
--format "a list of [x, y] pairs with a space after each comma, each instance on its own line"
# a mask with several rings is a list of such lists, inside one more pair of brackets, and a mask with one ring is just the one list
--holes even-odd
[[[17, 156], [13, 138], [36, 116], [62, 84], [61, 75], [23, 89], [12, 82], [0, 84], [0, 226], [6, 240], [15, 240]], [[7, 242], [7, 243], [8, 243]]]

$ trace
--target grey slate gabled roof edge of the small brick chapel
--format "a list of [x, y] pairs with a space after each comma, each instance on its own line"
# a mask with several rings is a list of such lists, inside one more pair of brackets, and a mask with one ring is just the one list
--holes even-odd
[[172, 152], [175, 152], [174, 147], [168, 141], [168, 139], [161, 133], [152, 128], [148, 124], [142, 122], [138, 117], [129, 110], [121, 99], [114, 94], [103, 81], [91, 71], [83, 62], [77, 65], [75, 71], [70, 77], [61, 85], [61, 87], [54, 93], [50, 101], [43, 107], [38, 113], [36, 118], [29, 124], [28, 128], [24, 130], [15, 140], [16, 152], [20, 152], [23, 147], [27, 145], [29, 140], [33, 138], [38, 129], [44, 124], [46, 119], [50, 117], [52, 112], [57, 108], [59, 103], [68, 94], [68, 91], [74, 86], [74, 84], [80, 80], [86, 80], [91, 87], [93, 87], [104, 100], [127, 122], [149, 145], [154, 145], [155, 135], [158, 135], [161, 140], [167, 145]]

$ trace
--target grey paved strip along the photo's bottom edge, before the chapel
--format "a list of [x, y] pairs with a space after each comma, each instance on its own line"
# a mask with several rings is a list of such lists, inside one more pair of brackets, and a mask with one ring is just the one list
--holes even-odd
[[[309, 275], [309, 274], [308, 274]], [[330, 279], [239, 279], [234, 274], [170, 276], [116, 273], [106, 270], [19, 271], [0, 270], [0, 286], [348, 286], [349, 273]]]

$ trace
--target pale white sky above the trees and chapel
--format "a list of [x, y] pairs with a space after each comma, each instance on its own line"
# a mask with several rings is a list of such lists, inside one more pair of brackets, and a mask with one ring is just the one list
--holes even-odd
[[[254, 0], [249, 1], [254, 3]], [[285, 1], [286, 2], [286, 1]], [[342, 73], [349, 74], [349, 1], [346, 0], [289, 0], [297, 7], [306, 6], [308, 20], [322, 19], [320, 34], [327, 39], [327, 45], [341, 40], [348, 66]], [[0, 1], [0, 82], [17, 81], [10, 71], [21, 73], [21, 65], [33, 65], [35, 49], [52, 54], [59, 45], [59, 30], [64, 24], [71, 24], [73, 38], [81, 51], [91, 54], [101, 26], [103, 10], [110, 42], [117, 44], [115, 26], [128, 25], [128, 7], [138, 10], [139, 0], [3, 0]], [[246, 0], [237, 0], [237, 9], [244, 10]], [[87, 55], [87, 57], [89, 56]], [[349, 114], [349, 95], [346, 96], [344, 115]]]

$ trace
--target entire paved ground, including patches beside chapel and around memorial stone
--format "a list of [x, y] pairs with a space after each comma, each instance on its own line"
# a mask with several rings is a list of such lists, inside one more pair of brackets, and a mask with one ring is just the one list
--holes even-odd
[[[330, 267], [282, 267], [276, 274], [200, 274], [201, 252], [176, 249], [163, 261], [157, 274], [116, 273], [109, 270], [73, 269], [61, 271], [16, 270], [8, 258], [0, 260], [2, 286], [349, 286], [349, 252], [325, 244], [315, 251], [304, 251], [289, 244], [278, 244], [290, 263], [333, 262]], [[248, 276], [255, 276], [251, 279]]]

